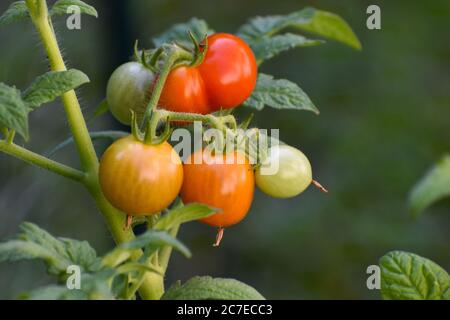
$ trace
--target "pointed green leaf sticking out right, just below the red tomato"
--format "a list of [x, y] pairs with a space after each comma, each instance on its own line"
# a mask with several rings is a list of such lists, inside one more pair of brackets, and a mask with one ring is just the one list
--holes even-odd
[[258, 75], [256, 88], [244, 105], [256, 110], [268, 106], [275, 109], [308, 110], [319, 114], [319, 110], [297, 84], [285, 79], [276, 80], [263, 73]]

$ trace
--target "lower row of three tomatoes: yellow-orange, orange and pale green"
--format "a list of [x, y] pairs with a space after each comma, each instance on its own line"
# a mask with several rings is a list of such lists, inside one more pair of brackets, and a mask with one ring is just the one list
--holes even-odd
[[[277, 169], [264, 168], [277, 162]], [[180, 195], [184, 203], [203, 203], [218, 213], [202, 219], [229, 227], [247, 215], [256, 185], [270, 196], [294, 197], [312, 182], [311, 165], [298, 149], [287, 145], [269, 149], [265, 163], [254, 171], [239, 151], [214, 153], [200, 149], [182, 164], [167, 142], [147, 145], [133, 136], [114, 142], [100, 162], [100, 184], [106, 198], [131, 216], [151, 215]]]

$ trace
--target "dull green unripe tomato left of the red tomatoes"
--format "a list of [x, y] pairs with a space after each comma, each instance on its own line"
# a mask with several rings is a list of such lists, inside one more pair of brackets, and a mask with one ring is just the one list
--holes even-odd
[[108, 81], [106, 101], [113, 116], [123, 124], [131, 124], [131, 110], [138, 119], [147, 107], [155, 75], [139, 62], [118, 67]]

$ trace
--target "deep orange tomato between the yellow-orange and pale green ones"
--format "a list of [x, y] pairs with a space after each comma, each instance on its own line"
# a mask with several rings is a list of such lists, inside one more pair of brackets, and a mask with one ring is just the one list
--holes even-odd
[[[234, 162], [226, 163], [230, 156], [198, 150], [183, 165], [184, 182], [181, 198], [184, 203], [198, 202], [221, 209], [202, 222], [215, 227], [229, 227], [247, 215], [253, 201], [255, 178], [253, 168], [242, 153], [234, 152]], [[195, 164], [195, 159], [203, 159]], [[221, 162], [222, 161], [222, 162]]]

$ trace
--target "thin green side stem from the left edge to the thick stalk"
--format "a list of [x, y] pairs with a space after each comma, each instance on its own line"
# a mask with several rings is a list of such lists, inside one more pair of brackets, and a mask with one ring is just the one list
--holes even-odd
[[0, 141], [0, 151], [75, 181], [82, 181], [85, 178], [85, 174], [79, 170], [50, 160], [44, 156], [7, 141]]

